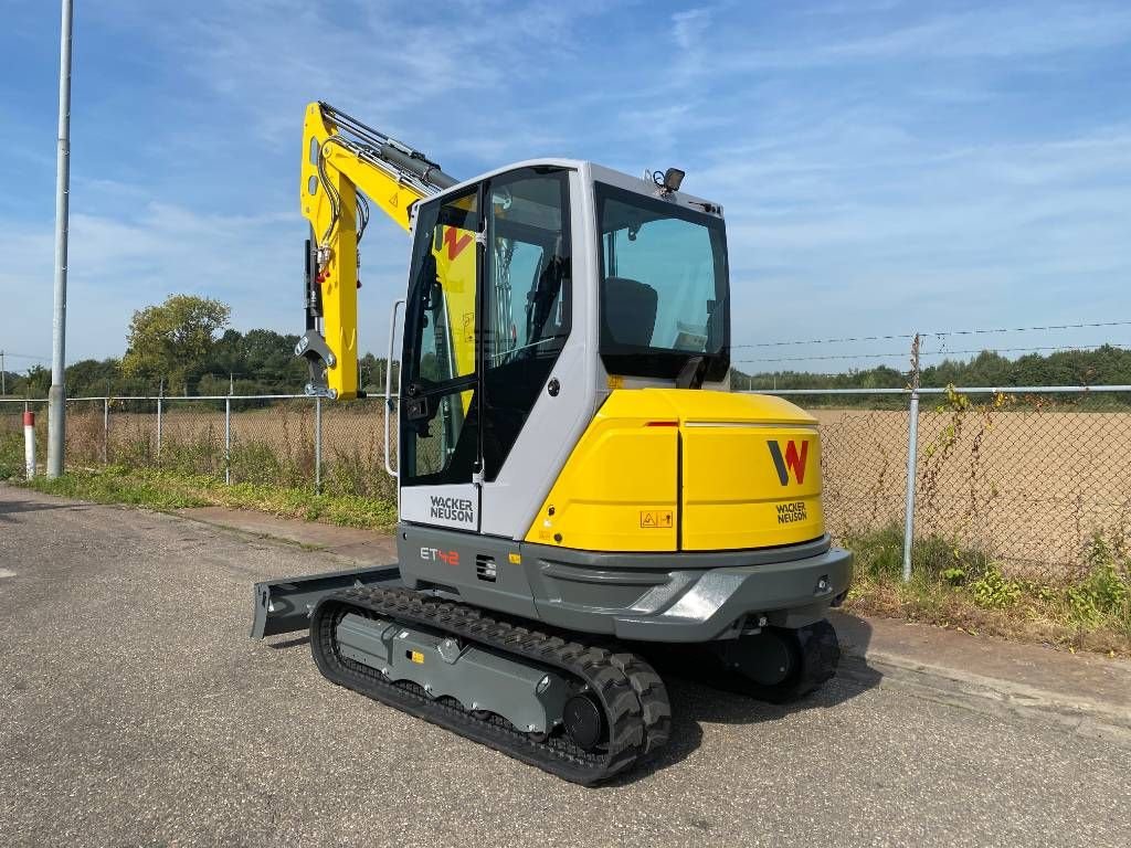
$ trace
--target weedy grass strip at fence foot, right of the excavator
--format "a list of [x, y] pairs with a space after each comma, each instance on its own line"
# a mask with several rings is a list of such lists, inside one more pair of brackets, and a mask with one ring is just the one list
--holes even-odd
[[1131, 552], [1102, 535], [1088, 544], [1078, 577], [1039, 581], [1010, 577], [984, 552], [933, 536], [915, 542], [915, 568], [905, 583], [903, 530], [896, 527], [854, 535], [844, 545], [856, 554], [849, 612], [1131, 656]]

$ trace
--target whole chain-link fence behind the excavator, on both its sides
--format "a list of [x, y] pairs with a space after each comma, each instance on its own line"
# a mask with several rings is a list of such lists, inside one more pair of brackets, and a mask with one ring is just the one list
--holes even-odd
[[[1087, 571], [1097, 538], [1117, 551], [1131, 543], [1131, 387], [774, 393], [820, 422], [826, 518], [839, 539], [901, 531], [909, 518], [916, 539], [944, 539], [1044, 580]], [[42, 462], [46, 409], [28, 403]], [[24, 406], [0, 403], [0, 432], [21, 432]], [[395, 432], [391, 441], [395, 453]], [[77, 398], [67, 403], [67, 460], [396, 494], [380, 398]], [[920, 548], [908, 551], [914, 568]]]

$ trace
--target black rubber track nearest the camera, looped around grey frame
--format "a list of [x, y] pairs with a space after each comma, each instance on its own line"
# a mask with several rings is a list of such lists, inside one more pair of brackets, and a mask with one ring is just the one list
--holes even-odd
[[[597, 698], [607, 736], [593, 752], [563, 733], [538, 741], [493, 713], [473, 715], [455, 699], [432, 699], [414, 683], [394, 683], [378, 669], [340, 656], [337, 625], [348, 613], [422, 625], [525, 663], [561, 669]], [[667, 742], [671, 732], [667, 690], [637, 655], [495, 621], [475, 607], [411, 589], [359, 587], [326, 596], [311, 616], [310, 644], [319, 670], [334, 683], [576, 784], [597, 784], [631, 769]]]

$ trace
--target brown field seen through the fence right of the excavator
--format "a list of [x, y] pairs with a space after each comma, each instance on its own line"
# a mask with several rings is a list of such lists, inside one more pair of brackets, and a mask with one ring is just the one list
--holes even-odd
[[[901, 522], [905, 412], [819, 410], [838, 536]], [[920, 414], [916, 535], [986, 551], [1016, 576], [1068, 576], [1089, 539], [1128, 537], [1131, 414], [1021, 403]]]

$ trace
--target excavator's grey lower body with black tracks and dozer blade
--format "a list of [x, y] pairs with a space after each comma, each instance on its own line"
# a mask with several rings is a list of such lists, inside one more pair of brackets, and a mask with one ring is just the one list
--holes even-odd
[[[420, 534], [403, 528], [402, 540], [409, 535], [411, 550]], [[428, 540], [451, 544], [432, 530]], [[330, 681], [586, 785], [666, 741], [671, 706], [656, 665], [775, 702], [836, 670], [824, 614], [847, 590], [852, 556], [827, 538], [776, 557], [684, 555], [674, 570], [662, 557], [651, 568], [631, 556], [619, 569], [593, 556], [563, 562], [537, 547], [523, 553], [533, 574], [525, 599], [498, 591], [499, 568], [484, 568], [484, 554], [463, 580], [440, 572], [446, 582], [414, 564], [257, 583], [252, 637], [309, 629]], [[688, 568], [699, 562], [714, 566]], [[622, 605], [585, 603], [589, 587]]]

